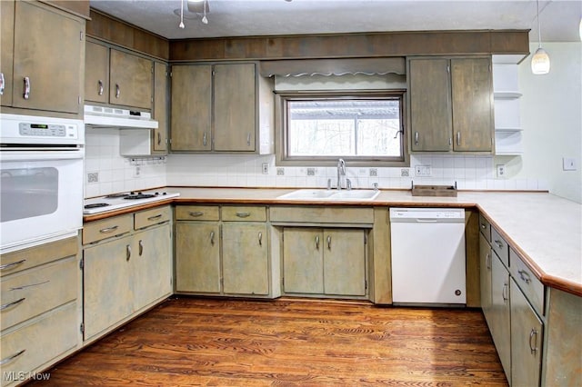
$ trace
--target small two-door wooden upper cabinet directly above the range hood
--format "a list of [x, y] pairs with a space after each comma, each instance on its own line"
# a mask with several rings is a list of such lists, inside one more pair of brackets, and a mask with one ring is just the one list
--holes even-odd
[[87, 42], [85, 68], [85, 101], [152, 108], [152, 60]]

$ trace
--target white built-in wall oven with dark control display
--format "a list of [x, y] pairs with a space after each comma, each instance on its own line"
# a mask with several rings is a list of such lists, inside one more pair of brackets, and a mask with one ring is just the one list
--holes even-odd
[[0, 114], [0, 253], [83, 226], [82, 120]]

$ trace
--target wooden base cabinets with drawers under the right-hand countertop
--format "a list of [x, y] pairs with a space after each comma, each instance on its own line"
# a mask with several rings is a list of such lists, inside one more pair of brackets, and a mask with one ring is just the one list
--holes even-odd
[[[481, 303], [489, 331], [507, 382], [539, 386], [546, 351], [545, 287], [497, 230], [485, 226], [479, 239]], [[489, 227], [493, 244], [487, 241]]]

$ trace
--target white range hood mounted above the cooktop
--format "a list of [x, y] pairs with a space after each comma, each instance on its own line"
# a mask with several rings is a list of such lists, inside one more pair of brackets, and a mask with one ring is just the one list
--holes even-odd
[[149, 112], [85, 104], [85, 124], [104, 128], [157, 129], [156, 120]]

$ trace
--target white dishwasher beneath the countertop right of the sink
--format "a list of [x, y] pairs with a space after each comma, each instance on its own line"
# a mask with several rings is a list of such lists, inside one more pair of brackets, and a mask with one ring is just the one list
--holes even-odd
[[465, 210], [390, 208], [390, 233], [393, 303], [467, 303]]

